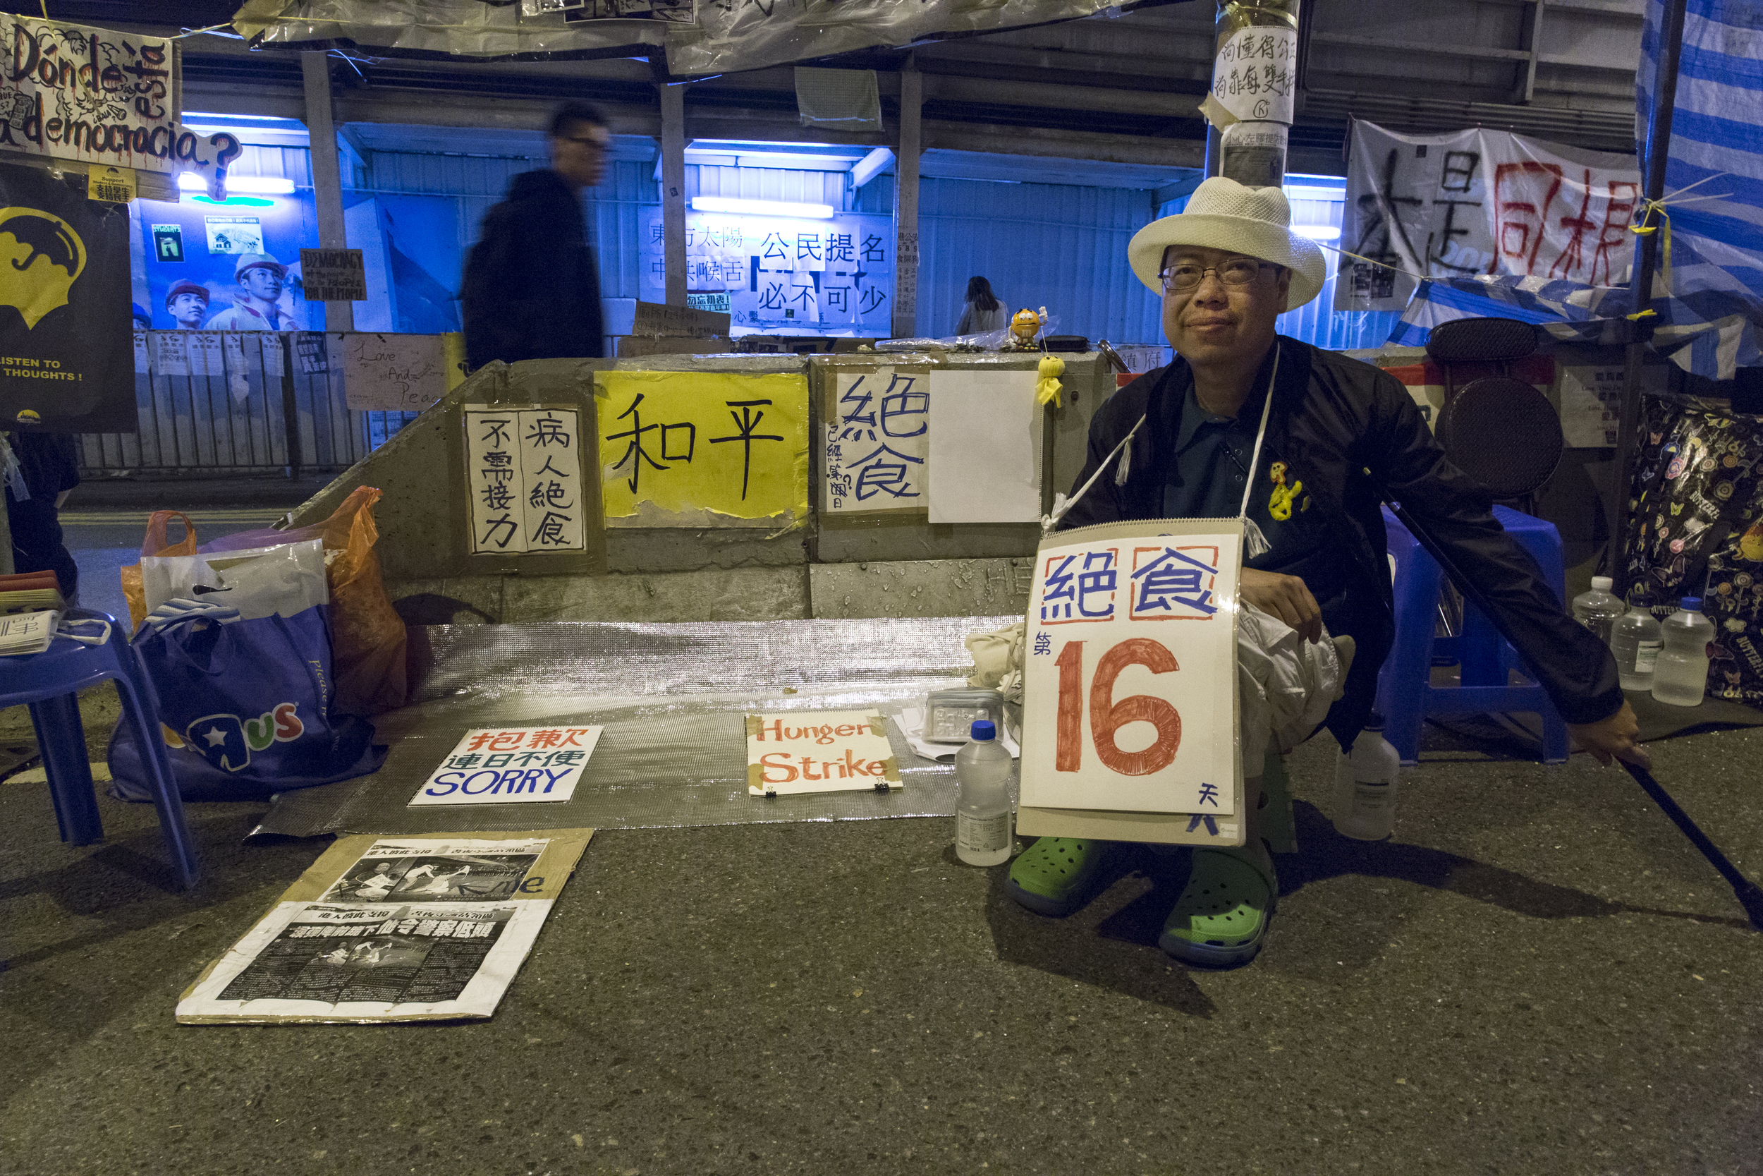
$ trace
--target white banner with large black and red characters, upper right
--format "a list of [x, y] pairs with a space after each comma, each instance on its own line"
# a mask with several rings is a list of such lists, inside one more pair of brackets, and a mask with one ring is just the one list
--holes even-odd
[[1507, 130], [1395, 134], [1352, 123], [1336, 310], [1402, 310], [1419, 279], [1516, 273], [1627, 282], [1633, 155]]

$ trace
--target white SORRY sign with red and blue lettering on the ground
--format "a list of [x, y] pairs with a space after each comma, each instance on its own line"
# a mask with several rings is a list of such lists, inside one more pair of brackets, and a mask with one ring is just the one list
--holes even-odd
[[568, 800], [599, 726], [485, 726], [465, 732], [423, 781], [418, 804], [529, 804]]

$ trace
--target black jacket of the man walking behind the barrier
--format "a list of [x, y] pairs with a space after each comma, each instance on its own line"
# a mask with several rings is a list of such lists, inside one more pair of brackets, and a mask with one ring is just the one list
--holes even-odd
[[575, 360], [605, 354], [599, 272], [582, 203], [552, 169], [524, 171], [483, 215], [460, 289], [465, 360]]

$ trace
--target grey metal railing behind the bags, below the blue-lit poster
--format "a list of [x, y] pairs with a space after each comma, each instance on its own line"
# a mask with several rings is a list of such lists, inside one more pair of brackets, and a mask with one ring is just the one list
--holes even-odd
[[83, 474], [340, 473], [416, 420], [344, 400], [319, 331], [136, 331], [132, 434], [81, 434]]

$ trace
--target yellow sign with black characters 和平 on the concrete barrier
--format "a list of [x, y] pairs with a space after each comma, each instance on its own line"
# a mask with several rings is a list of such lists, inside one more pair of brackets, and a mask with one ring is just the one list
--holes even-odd
[[740, 527], [807, 517], [807, 377], [594, 379], [608, 525]]

